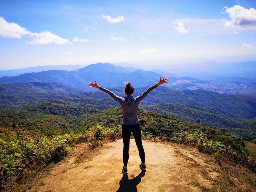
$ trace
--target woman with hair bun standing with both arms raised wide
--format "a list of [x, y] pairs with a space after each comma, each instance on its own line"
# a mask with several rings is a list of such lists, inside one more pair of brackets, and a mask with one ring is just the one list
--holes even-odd
[[162, 79], [162, 77], [160, 77], [160, 80], [158, 83], [156, 83], [152, 87], [148, 88], [144, 93], [142, 93], [141, 95], [139, 95], [135, 98], [133, 98], [133, 96], [132, 96], [134, 89], [131, 86], [130, 82], [125, 83], [126, 84], [126, 87], [125, 87], [126, 97], [124, 97], [124, 98], [117, 96], [113, 92], [111, 92], [103, 87], [100, 87], [96, 81], [95, 81], [95, 83], [89, 83], [90, 87], [95, 87], [101, 91], [104, 91], [105, 93], [109, 94], [113, 99], [115, 99], [121, 105], [121, 108], [123, 111], [122, 137], [123, 137], [123, 143], [124, 143], [124, 148], [123, 148], [124, 166], [122, 169], [123, 174], [128, 174], [127, 163], [128, 163], [128, 159], [129, 159], [129, 147], [130, 147], [131, 132], [134, 136], [137, 148], [139, 150], [139, 156], [141, 159], [141, 164], [139, 165], [139, 168], [142, 171], [146, 171], [145, 152], [144, 152], [142, 142], [141, 142], [141, 128], [140, 128], [139, 119], [138, 119], [138, 105], [139, 105], [139, 102], [142, 99], [144, 99], [150, 91], [154, 90], [159, 85], [161, 85], [163, 83], [167, 83], [167, 82], [168, 82], [167, 77], [165, 77], [164, 79]]

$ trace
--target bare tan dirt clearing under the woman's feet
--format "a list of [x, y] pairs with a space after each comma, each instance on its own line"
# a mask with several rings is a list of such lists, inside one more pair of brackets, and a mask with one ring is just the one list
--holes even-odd
[[[129, 174], [124, 177], [121, 139], [94, 149], [93, 156], [79, 162], [77, 154], [82, 157], [86, 148], [81, 144], [70, 148], [71, 155], [54, 166], [49, 175], [28, 192], [196, 192], [202, 190], [193, 185], [211, 189], [212, 179], [219, 175], [214, 171], [216, 167], [210, 161], [205, 163], [205, 157], [202, 160], [196, 150], [150, 141], [143, 141], [147, 165], [147, 172], [143, 173], [138, 168], [140, 159], [135, 141], [131, 139], [130, 143]], [[189, 185], [190, 182], [193, 183]]]

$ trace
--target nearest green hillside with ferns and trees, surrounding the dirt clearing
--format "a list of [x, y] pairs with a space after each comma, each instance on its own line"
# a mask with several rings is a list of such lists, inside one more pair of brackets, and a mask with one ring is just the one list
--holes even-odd
[[[82, 106], [80, 102], [83, 101]], [[101, 100], [49, 100], [29, 104], [22, 110], [0, 110], [0, 182], [4, 189], [23, 177], [31, 177], [50, 162], [67, 155], [68, 146], [121, 136], [120, 107], [102, 110]], [[109, 98], [107, 102], [111, 103]], [[85, 104], [87, 103], [99, 103]], [[93, 105], [95, 107], [93, 107]], [[78, 110], [79, 109], [79, 110]], [[231, 161], [256, 171], [256, 161], [244, 141], [232, 134], [168, 115], [139, 110], [142, 137], [198, 148], [214, 154], [216, 161]]]

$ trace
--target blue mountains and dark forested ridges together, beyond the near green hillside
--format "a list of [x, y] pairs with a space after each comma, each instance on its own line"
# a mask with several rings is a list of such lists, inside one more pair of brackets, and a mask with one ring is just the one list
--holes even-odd
[[[124, 82], [130, 81], [137, 96], [158, 82], [161, 75], [169, 78], [168, 84], [152, 91], [140, 107], [194, 123], [200, 120], [204, 125], [256, 139], [256, 80], [247, 77], [219, 76], [214, 81], [97, 63], [74, 71], [49, 70], [2, 77], [0, 109], [98, 113], [118, 105], [104, 92], [89, 88], [89, 82], [97, 80], [100, 86], [123, 97]], [[60, 109], [62, 112], [58, 112]]]

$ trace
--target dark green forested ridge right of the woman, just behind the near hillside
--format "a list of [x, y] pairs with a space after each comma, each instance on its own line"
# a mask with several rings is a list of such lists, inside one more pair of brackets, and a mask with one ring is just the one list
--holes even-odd
[[192, 123], [200, 121], [203, 125], [225, 129], [227, 133], [250, 140], [256, 138], [256, 118], [236, 120], [227, 111], [217, 107], [199, 107], [184, 103], [158, 103], [144, 106], [143, 109], [155, 113], [170, 115]]

